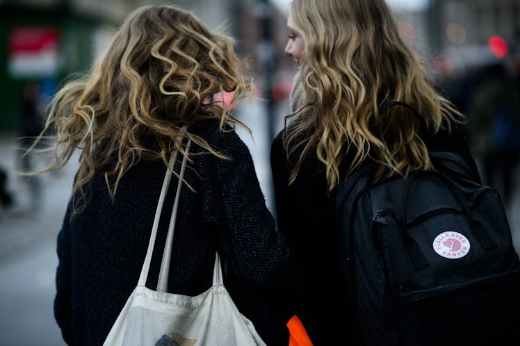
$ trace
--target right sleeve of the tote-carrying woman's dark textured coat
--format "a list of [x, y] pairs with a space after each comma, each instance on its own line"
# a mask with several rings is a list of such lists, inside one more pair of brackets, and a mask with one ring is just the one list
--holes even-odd
[[202, 178], [211, 182], [206, 217], [218, 228], [226, 288], [268, 345], [287, 345], [295, 260], [266, 206], [249, 149], [234, 131], [222, 136], [219, 151], [229, 160], [212, 156], [215, 169]]

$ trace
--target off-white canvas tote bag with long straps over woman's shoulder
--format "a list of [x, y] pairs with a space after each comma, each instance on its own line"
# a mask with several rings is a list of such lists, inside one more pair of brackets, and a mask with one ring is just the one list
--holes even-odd
[[[186, 152], [189, 146], [190, 142], [186, 145]], [[176, 158], [177, 151], [170, 158], [170, 167], [174, 167]], [[183, 176], [185, 167], [186, 156], [182, 161], [180, 176]], [[159, 217], [171, 176], [172, 172], [167, 169], [137, 287], [108, 333], [104, 346], [266, 345], [252, 322], [238, 311], [224, 287], [218, 254], [213, 268], [213, 286], [209, 290], [195, 297], [168, 293], [170, 254], [181, 179], [177, 184], [157, 289], [152, 290], [145, 286]]]

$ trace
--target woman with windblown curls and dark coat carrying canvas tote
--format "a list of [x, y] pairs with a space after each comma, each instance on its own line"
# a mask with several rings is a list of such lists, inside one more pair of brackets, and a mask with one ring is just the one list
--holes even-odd
[[[283, 299], [291, 253], [266, 208], [250, 152], [234, 131], [241, 124], [216, 97], [231, 92], [234, 104], [252, 90], [245, 66], [234, 40], [209, 31], [193, 14], [145, 6], [124, 21], [90, 73], [57, 92], [45, 126], [56, 133], [49, 148], [56, 161], [47, 170], [79, 151], [57, 243], [54, 313], [67, 344], [101, 345], [136, 287], [165, 170], [177, 150], [177, 162], [187, 156], [187, 188], [168, 291], [195, 296], [207, 290], [217, 251], [238, 308], [268, 345], [287, 345], [290, 316], [269, 315], [273, 304], [262, 302], [264, 292]], [[172, 210], [176, 186], [170, 184], [163, 211]], [[156, 248], [164, 247], [168, 231], [170, 215], [163, 214]], [[150, 288], [160, 260], [152, 258]]]

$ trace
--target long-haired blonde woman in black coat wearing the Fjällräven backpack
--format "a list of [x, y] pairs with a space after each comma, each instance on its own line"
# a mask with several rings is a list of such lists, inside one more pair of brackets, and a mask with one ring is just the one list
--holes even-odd
[[[464, 116], [436, 91], [384, 0], [293, 0], [288, 27], [285, 50], [299, 71], [291, 114], [271, 148], [277, 222], [300, 267], [297, 314], [311, 340], [333, 345], [341, 334], [354, 343], [334, 206], [339, 182], [365, 160], [379, 163], [376, 178], [430, 170], [428, 149], [459, 152], [480, 178]], [[418, 110], [427, 129], [403, 106], [381, 113], [391, 101]], [[331, 309], [341, 312], [327, 318]]]

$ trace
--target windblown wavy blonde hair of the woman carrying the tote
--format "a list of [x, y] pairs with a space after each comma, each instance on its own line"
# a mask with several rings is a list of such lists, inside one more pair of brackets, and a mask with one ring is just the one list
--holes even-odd
[[187, 155], [178, 136], [225, 158], [189, 128], [180, 130], [210, 119], [220, 120], [221, 130], [241, 124], [215, 95], [233, 92], [234, 104], [252, 94], [251, 79], [241, 74], [246, 67], [234, 39], [209, 31], [192, 13], [173, 6], [138, 8], [90, 72], [66, 83], [51, 101], [39, 139], [56, 133], [55, 145], [47, 148], [55, 160], [42, 171], [62, 167], [79, 149], [73, 194], [84, 193], [95, 172], [105, 171], [114, 198], [123, 174], [141, 158], [168, 165], [172, 150]]

